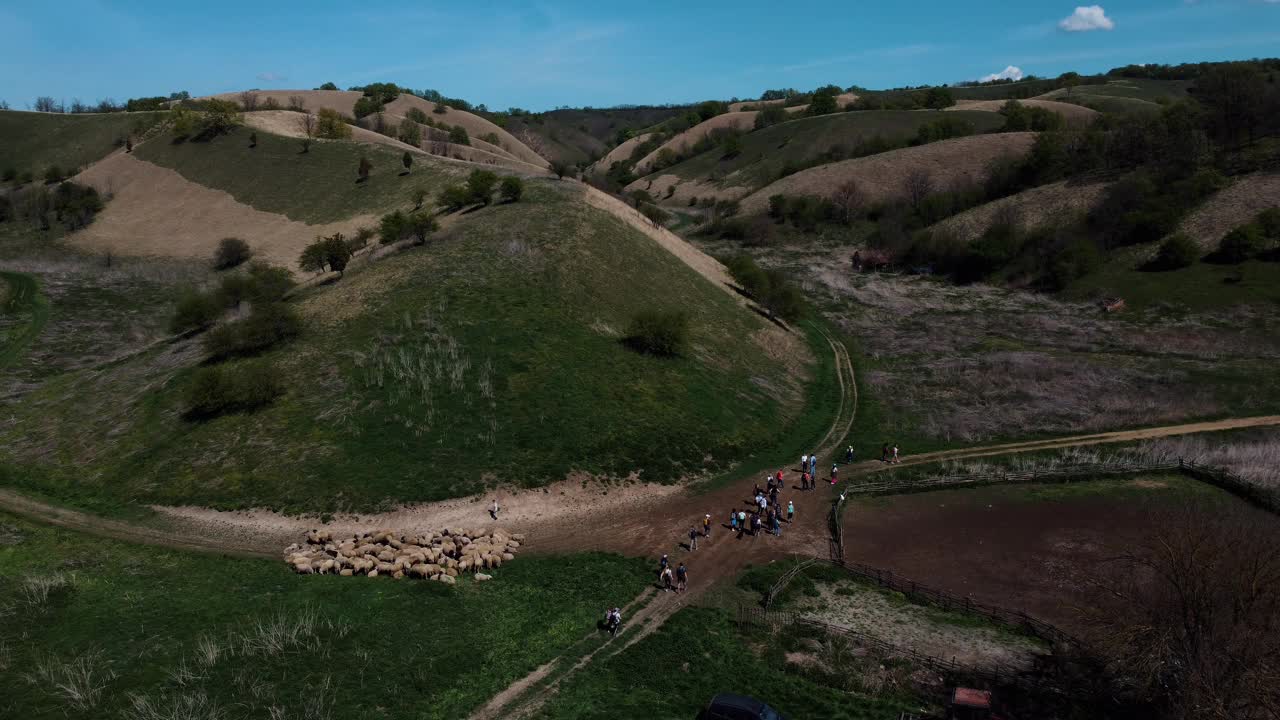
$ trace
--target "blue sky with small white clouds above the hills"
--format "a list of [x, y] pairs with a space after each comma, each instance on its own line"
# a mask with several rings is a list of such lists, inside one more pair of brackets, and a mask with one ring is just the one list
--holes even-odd
[[1280, 54], [1280, 0], [1078, 3], [3, 0], [0, 99], [390, 81], [541, 110]]

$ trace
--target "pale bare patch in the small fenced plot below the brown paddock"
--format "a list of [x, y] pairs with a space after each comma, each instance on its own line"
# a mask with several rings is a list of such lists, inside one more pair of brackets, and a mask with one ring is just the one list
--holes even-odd
[[977, 667], [1029, 670], [1047, 648], [993, 625], [957, 625], [942, 611], [913, 605], [854, 580], [819, 583], [818, 597], [794, 610], [805, 618], [882, 639], [893, 647]]

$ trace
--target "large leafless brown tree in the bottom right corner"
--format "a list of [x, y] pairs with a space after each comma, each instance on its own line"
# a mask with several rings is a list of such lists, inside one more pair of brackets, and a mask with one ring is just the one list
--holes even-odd
[[1190, 503], [1153, 527], [1091, 578], [1094, 648], [1162, 717], [1280, 717], [1280, 529]]

